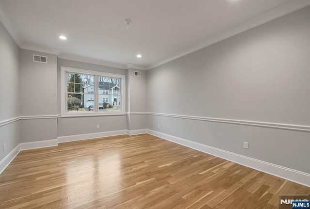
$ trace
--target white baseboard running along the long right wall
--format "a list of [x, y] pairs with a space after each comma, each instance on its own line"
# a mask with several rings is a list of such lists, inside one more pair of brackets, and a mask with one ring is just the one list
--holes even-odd
[[280, 165], [272, 164], [265, 161], [260, 161], [257, 159], [249, 158], [247, 156], [239, 155], [233, 152], [225, 151], [222, 149], [218, 149], [212, 146], [203, 145], [200, 143], [192, 142], [186, 139], [182, 139], [179, 137], [171, 136], [169, 134], [161, 133], [155, 130], [147, 129], [147, 133], [157, 136], [162, 139], [166, 139], [168, 141], [177, 143], [179, 145], [184, 145], [204, 153], [208, 153], [219, 158], [233, 161], [237, 164], [241, 164], [247, 166], [249, 168], [253, 168], [258, 171], [262, 171], [264, 173], [284, 178], [295, 183], [310, 187], [310, 174], [304, 173], [301, 171], [297, 171], [291, 168], [286, 168]]

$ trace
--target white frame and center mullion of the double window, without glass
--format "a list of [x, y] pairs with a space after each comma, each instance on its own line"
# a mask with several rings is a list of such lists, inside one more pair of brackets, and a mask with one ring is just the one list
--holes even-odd
[[[67, 112], [67, 73], [75, 73], [75, 74], [85, 74], [85, 75], [93, 75], [93, 109], [94, 111], [87, 112]], [[99, 89], [98, 89], [98, 76], [102, 77], [112, 77], [120, 79], [120, 101], [121, 101], [121, 110], [120, 111], [99, 111]], [[125, 76], [120, 74], [113, 73], [105, 73], [93, 70], [83, 70], [72, 67], [64, 67], [61, 66], [61, 117], [80, 117], [80, 116], [103, 116], [103, 115], [124, 115], [125, 114]]]

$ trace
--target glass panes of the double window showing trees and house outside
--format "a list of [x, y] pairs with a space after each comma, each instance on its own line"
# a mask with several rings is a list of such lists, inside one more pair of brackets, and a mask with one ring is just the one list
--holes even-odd
[[[74, 70], [72, 70], [74, 71]], [[121, 109], [121, 79], [116, 77], [98, 76], [66, 72], [67, 112], [104, 113]], [[124, 76], [120, 76], [122, 79]], [[94, 80], [98, 78], [98, 80]], [[96, 82], [96, 83], [95, 83]], [[96, 85], [97, 90], [94, 89]], [[94, 103], [94, 101], [98, 103]], [[65, 105], [65, 104], [64, 104]], [[94, 109], [94, 107], [98, 109]]]

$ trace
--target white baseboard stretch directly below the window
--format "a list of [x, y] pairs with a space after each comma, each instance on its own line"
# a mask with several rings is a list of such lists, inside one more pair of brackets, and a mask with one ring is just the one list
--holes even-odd
[[98, 133], [86, 133], [86, 134], [77, 134], [77, 135], [70, 135], [70, 136], [59, 136], [57, 137], [58, 143], [63, 142], [73, 142], [79, 140], [86, 140], [86, 139], [95, 139], [107, 136], [117, 136], [127, 134], [127, 130], [113, 130], [113, 131], [105, 131], [105, 132], [98, 132]]

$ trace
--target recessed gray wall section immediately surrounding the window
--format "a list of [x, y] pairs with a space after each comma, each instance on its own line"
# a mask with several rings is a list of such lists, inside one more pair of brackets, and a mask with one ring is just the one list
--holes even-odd
[[[61, 66], [126, 75], [126, 70], [124, 69], [58, 59], [57, 62], [58, 114], [60, 114], [60, 105], [61, 105], [60, 104]], [[99, 129], [96, 128], [97, 125], [99, 125]], [[96, 133], [96, 132], [113, 131], [113, 130], [124, 130], [124, 129], [126, 129], [125, 115], [64, 117], [64, 118], [58, 118], [57, 136], [69, 136], [69, 135]]]

